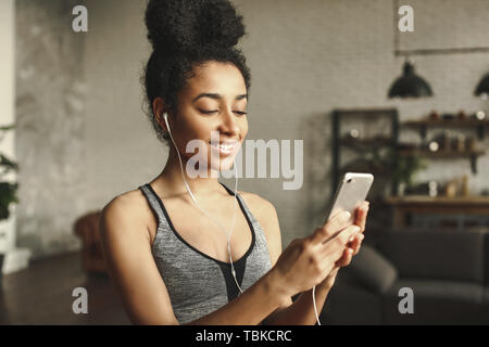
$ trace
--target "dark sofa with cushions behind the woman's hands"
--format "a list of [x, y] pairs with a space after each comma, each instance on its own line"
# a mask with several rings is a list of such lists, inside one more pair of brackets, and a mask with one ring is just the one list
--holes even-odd
[[[322, 324], [489, 324], [487, 231], [391, 231], [376, 240], [338, 273]], [[413, 291], [413, 313], [399, 310], [402, 287]]]

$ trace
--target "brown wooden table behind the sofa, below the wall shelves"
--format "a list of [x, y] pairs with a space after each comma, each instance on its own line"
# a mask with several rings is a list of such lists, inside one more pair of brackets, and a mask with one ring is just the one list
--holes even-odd
[[489, 219], [489, 196], [429, 197], [413, 195], [389, 197], [386, 202], [392, 206], [393, 228], [409, 227], [406, 222], [409, 215], [485, 216]]

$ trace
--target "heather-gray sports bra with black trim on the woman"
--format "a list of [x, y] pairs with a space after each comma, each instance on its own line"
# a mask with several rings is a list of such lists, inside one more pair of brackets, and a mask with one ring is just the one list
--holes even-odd
[[[234, 195], [230, 189], [221, 184]], [[230, 273], [230, 264], [214, 259], [187, 243], [175, 230], [163, 201], [152, 187], [147, 183], [139, 189], [158, 219], [151, 250], [178, 322], [195, 321], [237, 297], [239, 291]], [[239, 286], [246, 291], [272, 268], [272, 262], [261, 226], [242, 197], [238, 193], [236, 197], [252, 235], [250, 248], [234, 261]]]

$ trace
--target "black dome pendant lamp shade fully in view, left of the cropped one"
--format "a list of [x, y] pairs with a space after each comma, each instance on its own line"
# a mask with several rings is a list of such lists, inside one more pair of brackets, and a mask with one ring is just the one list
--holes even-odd
[[423, 98], [431, 97], [429, 85], [414, 73], [414, 65], [404, 63], [404, 73], [389, 89], [389, 98]]

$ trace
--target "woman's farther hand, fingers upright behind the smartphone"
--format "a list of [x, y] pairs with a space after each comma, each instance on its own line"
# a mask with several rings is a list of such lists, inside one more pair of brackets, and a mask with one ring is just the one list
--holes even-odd
[[356, 235], [351, 236], [349, 243], [343, 252], [342, 257], [336, 262], [335, 268], [326, 277], [326, 279], [321, 283], [321, 286], [333, 287], [335, 284], [336, 275], [339, 268], [349, 266], [351, 259], [354, 255], [360, 252], [362, 241], [365, 237], [363, 232], [365, 231], [366, 218], [368, 215], [368, 202], [363, 202], [363, 204], [356, 209], [355, 226], [360, 227], [360, 232]]

